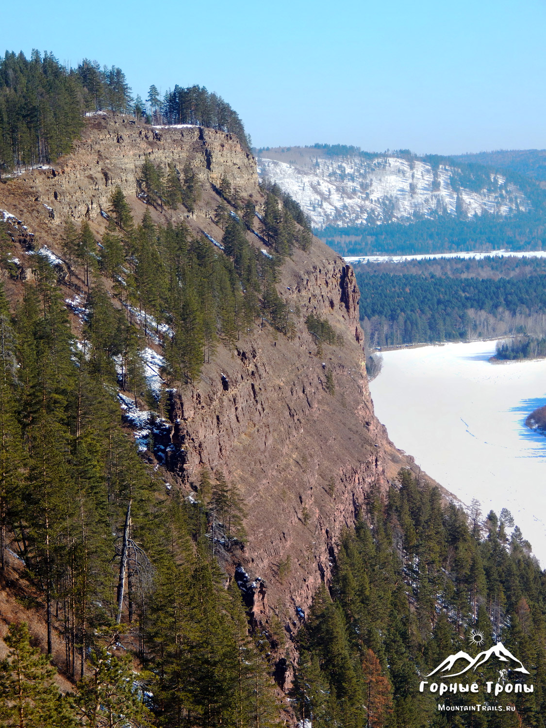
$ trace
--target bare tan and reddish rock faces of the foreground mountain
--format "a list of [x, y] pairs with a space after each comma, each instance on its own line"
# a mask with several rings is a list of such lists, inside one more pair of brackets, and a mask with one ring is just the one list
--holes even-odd
[[[138, 199], [135, 175], [146, 155], [165, 166], [189, 160], [202, 186], [194, 215], [183, 208], [162, 214]], [[0, 207], [16, 215], [9, 218], [14, 253], [30, 270], [29, 248], [47, 245], [62, 258], [60, 222], [67, 216], [89, 218], [101, 234], [106, 220], [100, 211], [108, 210], [116, 185], [137, 220], [151, 210], [158, 222], [184, 218], [194, 232], [220, 240], [211, 210], [223, 176], [242, 197], [252, 196], [258, 207], [263, 202], [256, 162], [230, 135], [92, 117], [55, 169], [1, 183]], [[250, 234], [249, 240], [258, 249], [264, 245]], [[4, 277], [17, 296], [20, 283]], [[77, 285], [77, 271], [74, 280]], [[296, 250], [282, 265], [278, 290], [289, 304], [290, 336], [258, 324], [232, 351], [218, 347], [201, 380], [178, 392], [170, 412], [175, 454], [165, 478], [186, 494], [202, 467], [222, 470], [237, 483], [248, 543], [221, 556], [224, 566], [257, 621], [270, 627], [274, 613], [294, 633], [321, 580], [331, 576], [342, 529], [355, 523], [373, 488], [383, 491], [387, 478], [411, 461], [395, 451], [373, 414], [351, 267], [315, 239], [309, 253]], [[328, 320], [338, 345], [317, 349], [305, 323], [310, 313]]]

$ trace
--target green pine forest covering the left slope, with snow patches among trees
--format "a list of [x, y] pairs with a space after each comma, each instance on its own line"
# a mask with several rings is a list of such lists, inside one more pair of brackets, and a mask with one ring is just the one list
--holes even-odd
[[[191, 209], [199, 195], [191, 170], [146, 159], [137, 171], [149, 206]], [[291, 335], [275, 284], [285, 256], [309, 250], [309, 230], [272, 191], [261, 220], [227, 181], [218, 192], [221, 242], [157, 225], [149, 210], [135, 221], [115, 188], [101, 240], [86, 220], [67, 220], [65, 264], [31, 249], [20, 304], [0, 290], [0, 574], [10, 550], [35, 595], [25, 606], [45, 615], [48, 652], [60, 638], [57, 667], [77, 681], [74, 700], [61, 698], [47, 658], [13, 625], [0, 662], [7, 725], [17, 680], [33, 716], [23, 728], [277, 723], [275, 637], [250, 633], [239, 587], [226, 590], [219, 566], [245, 543], [237, 483], [202, 470], [185, 499], [153, 466], [182, 467], [165, 418], [219, 346], [257, 325]], [[9, 224], [0, 265], [15, 280]], [[250, 245], [250, 229], [269, 252]]]

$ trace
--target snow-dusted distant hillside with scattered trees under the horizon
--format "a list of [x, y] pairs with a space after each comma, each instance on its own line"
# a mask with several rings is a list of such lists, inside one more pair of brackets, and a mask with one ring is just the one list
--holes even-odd
[[[480, 175], [478, 181], [456, 167], [433, 168], [417, 159], [300, 157], [296, 162], [261, 157], [258, 173], [296, 199], [317, 228], [408, 220], [435, 213], [508, 215], [530, 207], [520, 189], [495, 173]], [[464, 186], [465, 177], [472, 189]]]

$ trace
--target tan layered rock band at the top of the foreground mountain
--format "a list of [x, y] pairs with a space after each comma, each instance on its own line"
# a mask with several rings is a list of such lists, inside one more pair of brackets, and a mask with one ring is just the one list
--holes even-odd
[[[54, 225], [67, 217], [95, 221], [110, 207], [114, 187], [136, 197], [138, 170], [146, 157], [165, 168], [172, 162], [179, 170], [189, 162], [205, 189], [225, 177], [242, 197], [258, 194], [256, 161], [234, 135], [191, 126], [155, 128], [129, 116], [100, 114], [90, 117], [72, 153], [53, 168], [10, 180], [4, 200], [13, 202], [12, 213], [28, 217], [33, 210]], [[210, 201], [202, 196], [197, 215], [210, 214]]]

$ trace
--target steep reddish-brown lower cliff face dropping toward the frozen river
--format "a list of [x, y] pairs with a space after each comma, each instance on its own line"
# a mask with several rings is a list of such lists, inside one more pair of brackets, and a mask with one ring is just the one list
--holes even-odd
[[[300, 253], [283, 267], [290, 307], [300, 308], [292, 339], [257, 328], [231, 354], [220, 352], [205, 381], [182, 392], [173, 411], [173, 442], [183, 448], [179, 472], [195, 480], [200, 467], [221, 468], [240, 486], [248, 510], [240, 559], [251, 577], [266, 581], [269, 603], [282, 604], [289, 625], [330, 576], [341, 529], [355, 523], [370, 488], [387, 485], [354, 276], [321, 252], [320, 261]], [[342, 346], [326, 345], [317, 355], [304, 324], [310, 312], [328, 317]], [[281, 579], [280, 571], [288, 574]]]

